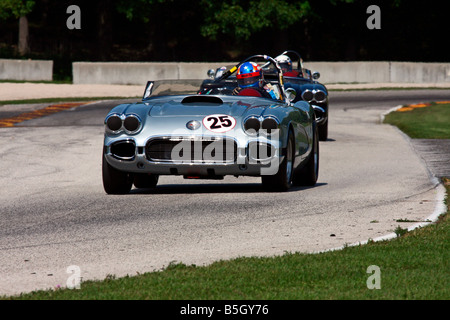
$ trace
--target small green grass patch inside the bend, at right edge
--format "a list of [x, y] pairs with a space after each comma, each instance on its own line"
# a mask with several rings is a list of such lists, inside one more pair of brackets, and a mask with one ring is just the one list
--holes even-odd
[[413, 139], [450, 139], [450, 104], [391, 112], [384, 123], [397, 126]]

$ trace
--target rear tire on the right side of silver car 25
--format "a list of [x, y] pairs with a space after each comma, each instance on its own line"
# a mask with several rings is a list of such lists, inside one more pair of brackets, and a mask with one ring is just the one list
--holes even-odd
[[313, 186], [319, 177], [319, 132], [317, 125], [314, 129], [313, 149], [303, 167], [294, 172], [295, 186]]

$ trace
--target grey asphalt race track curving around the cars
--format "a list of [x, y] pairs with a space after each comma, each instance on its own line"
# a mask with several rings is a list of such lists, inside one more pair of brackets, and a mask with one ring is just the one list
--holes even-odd
[[[120, 277], [174, 261], [329, 250], [415, 223], [399, 219], [426, 221], [439, 204], [436, 180], [380, 115], [441, 100], [450, 90], [332, 91], [318, 183], [287, 193], [264, 192], [258, 178], [161, 177], [156, 191], [106, 195], [102, 123], [117, 101], [2, 127], [0, 294], [65, 287], [71, 266], [83, 280]], [[46, 106], [5, 106], [0, 118]]]

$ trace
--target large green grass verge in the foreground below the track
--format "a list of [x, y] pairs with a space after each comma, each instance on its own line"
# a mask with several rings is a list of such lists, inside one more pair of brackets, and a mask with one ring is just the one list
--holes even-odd
[[[448, 108], [437, 112], [448, 116]], [[431, 109], [430, 109], [431, 110]], [[420, 114], [416, 114], [423, 121]], [[440, 117], [438, 116], [437, 119]], [[424, 126], [428, 135], [433, 123]], [[450, 179], [443, 179], [447, 194]], [[209, 266], [171, 264], [158, 272], [104, 281], [80, 289], [36, 291], [2, 299], [23, 300], [448, 300], [450, 219], [397, 238], [318, 254], [286, 253], [238, 258]], [[399, 223], [403, 220], [399, 220]], [[376, 223], [376, 221], [373, 221]], [[380, 289], [368, 289], [369, 266], [380, 268]]]

